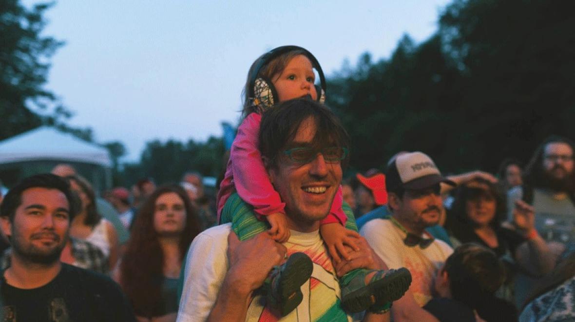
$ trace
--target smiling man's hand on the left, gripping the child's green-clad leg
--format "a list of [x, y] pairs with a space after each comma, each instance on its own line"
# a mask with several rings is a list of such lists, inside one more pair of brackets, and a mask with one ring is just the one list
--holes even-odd
[[282, 263], [287, 249], [267, 233], [239, 241], [236, 234], [228, 236], [229, 271], [227, 278], [241, 293], [251, 293], [262, 286], [271, 268]]

